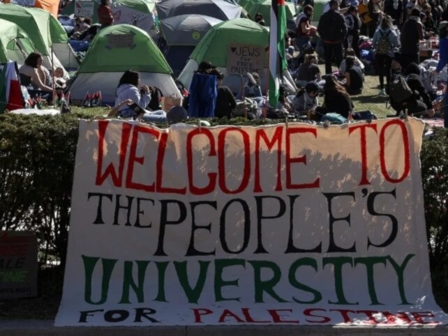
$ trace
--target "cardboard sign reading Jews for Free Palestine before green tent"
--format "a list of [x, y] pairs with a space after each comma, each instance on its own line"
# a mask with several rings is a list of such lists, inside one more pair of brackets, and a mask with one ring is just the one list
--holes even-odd
[[245, 75], [247, 72], [261, 73], [266, 52], [260, 45], [241, 45], [232, 43], [227, 46], [227, 73]]

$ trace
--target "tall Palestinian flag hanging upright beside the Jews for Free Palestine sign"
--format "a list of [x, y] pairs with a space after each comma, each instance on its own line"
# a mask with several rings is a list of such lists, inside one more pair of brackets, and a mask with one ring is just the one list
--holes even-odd
[[283, 70], [288, 68], [285, 59], [286, 11], [285, 0], [271, 0], [271, 26], [269, 29], [269, 105], [276, 107]]

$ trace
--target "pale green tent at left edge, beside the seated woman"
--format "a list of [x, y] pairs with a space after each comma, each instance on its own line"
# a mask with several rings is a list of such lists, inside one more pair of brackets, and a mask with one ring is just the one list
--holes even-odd
[[0, 19], [0, 63], [24, 59], [36, 49], [33, 42], [20, 26], [13, 22]]

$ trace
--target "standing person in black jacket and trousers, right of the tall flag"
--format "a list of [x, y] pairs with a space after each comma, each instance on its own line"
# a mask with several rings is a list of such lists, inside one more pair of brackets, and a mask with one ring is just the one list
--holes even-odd
[[341, 64], [342, 43], [347, 35], [347, 26], [341, 13], [337, 12], [338, 1], [330, 0], [330, 10], [319, 20], [318, 33], [324, 42], [325, 73], [331, 74], [331, 63]]

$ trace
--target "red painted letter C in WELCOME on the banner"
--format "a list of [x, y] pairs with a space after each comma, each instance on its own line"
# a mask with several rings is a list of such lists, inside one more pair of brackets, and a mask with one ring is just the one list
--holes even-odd
[[187, 136], [187, 144], [186, 144], [186, 156], [187, 156], [187, 169], [188, 169], [188, 187], [190, 188], [190, 191], [192, 194], [209, 194], [210, 192], [213, 192], [216, 188], [216, 173], [209, 173], [207, 176], [209, 176], [209, 184], [205, 186], [204, 188], [198, 188], [193, 183], [193, 137], [196, 135], [205, 135], [209, 138], [210, 143], [210, 152], [209, 156], [216, 156], [216, 148], [215, 148], [215, 140], [213, 135], [209, 130], [196, 128], [195, 130], [192, 130], [188, 133]]

